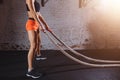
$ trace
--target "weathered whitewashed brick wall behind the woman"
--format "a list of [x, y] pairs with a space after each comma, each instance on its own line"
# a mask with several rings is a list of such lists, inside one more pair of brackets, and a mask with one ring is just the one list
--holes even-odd
[[[25, 0], [4, 0], [0, 10], [0, 50], [28, 50]], [[48, 0], [41, 14], [58, 37], [74, 49], [120, 48], [119, 22], [99, 7], [79, 8], [79, 0]], [[57, 49], [43, 33], [41, 37], [43, 50]]]

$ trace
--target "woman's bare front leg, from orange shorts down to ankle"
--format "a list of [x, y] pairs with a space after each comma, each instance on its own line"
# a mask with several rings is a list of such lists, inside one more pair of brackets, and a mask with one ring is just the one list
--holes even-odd
[[28, 70], [30, 71], [33, 69], [33, 59], [36, 49], [36, 32], [33, 30], [28, 31], [28, 37], [30, 41], [30, 49], [28, 52]]

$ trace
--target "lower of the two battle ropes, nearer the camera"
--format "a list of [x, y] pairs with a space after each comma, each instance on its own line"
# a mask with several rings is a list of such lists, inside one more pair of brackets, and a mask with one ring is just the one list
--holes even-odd
[[47, 33], [47, 32], [44, 32], [47, 37], [51, 40], [51, 42], [57, 46], [57, 48], [65, 55], [67, 56], [68, 58], [72, 59], [73, 61], [76, 61], [80, 64], [83, 64], [83, 65], [87, 65], [87, 66], [91, 66], [91, 67], [120, 67], [120, 64], [91, 64], [91, 63], [87, 63], [87, 62], [84, 62], [84, 61], [81, 61], [73, 56], [71, 56], [69, 53], [67, 53], [61, 46], [58, 45], [58, 43]]

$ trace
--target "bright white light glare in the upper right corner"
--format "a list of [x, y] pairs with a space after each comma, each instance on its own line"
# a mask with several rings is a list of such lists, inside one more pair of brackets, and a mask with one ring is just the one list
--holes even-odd
[[99, 8], [114, 23], [120, 21], [120, 0], [100, 0]]

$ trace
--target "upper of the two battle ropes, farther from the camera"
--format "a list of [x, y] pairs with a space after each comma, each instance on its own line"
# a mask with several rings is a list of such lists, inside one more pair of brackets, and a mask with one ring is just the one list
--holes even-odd
[[54, 38], [56, 38], [62, 45], [64, 45], [66, 48], [68, 48], [68, 50], [70, 50], [71, 52], [73, 52], [74, 54], [78, 55], [78, 56], [81, 56], [87, 60], [90, 60], [90, 61], [94, 61], [94, 62], [102, 62], [102, 63], [120, 63], [120, 61], [115, 61], [115, 60], [101, 60], [101, 59], [94, 59], [94, 58], [91, 58], [91, 57], [88, 57], [88, 56], [85, 56], [77, 51], [75, 51], [74, 49], [70, 48], [68, 45], [66, 45], [62, 40], [60, 40], [55, 33], [53, 32], [50, 32]]

